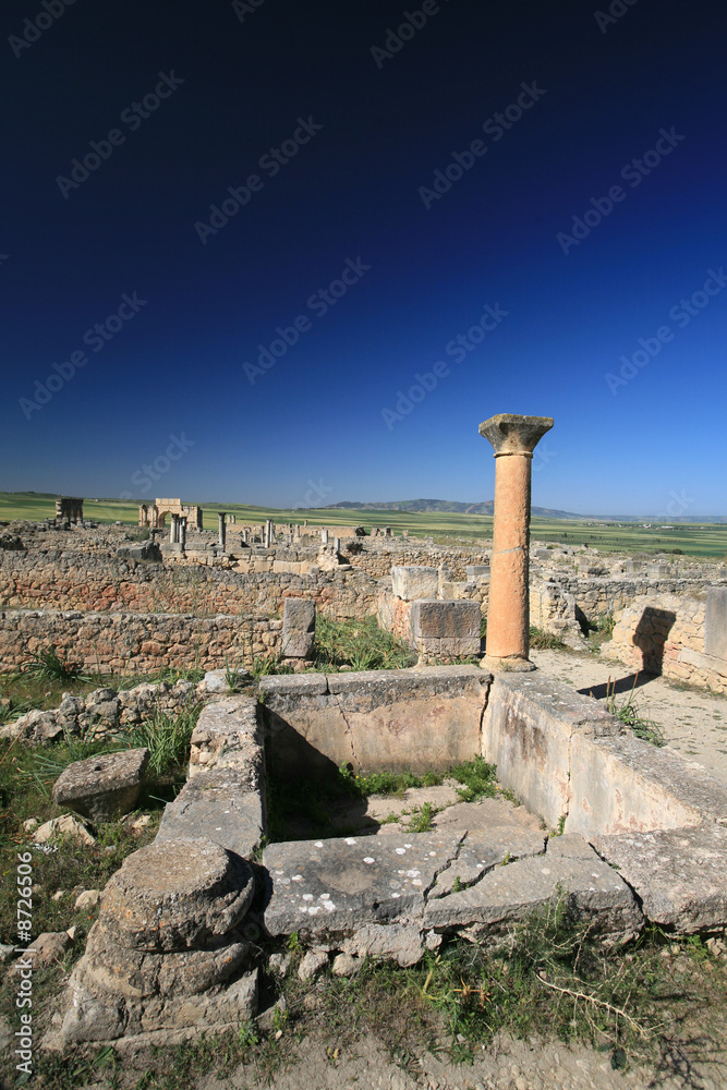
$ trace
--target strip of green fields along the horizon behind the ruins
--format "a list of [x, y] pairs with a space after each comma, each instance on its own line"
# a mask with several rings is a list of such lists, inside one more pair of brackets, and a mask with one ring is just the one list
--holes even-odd
[[[56, 513], [56, 496], [50, 493], [0, 493], [0, 521], [31, 519], [41, 521]], [[184, 499], [184, 502], [193, 500]], [[445, 543], [463, 540], [476, 543], [492, 537], [493, 520], [483, 514], [459, 514], [444, 511], [425, 513], [412, 511], [372, 510], [298, 510], [281, 511], [272, 507], [247, 507], [243, 504], [202, 504], [205, 530], [217, 529], [217, 511], [226, 510], [237, 516], [240, 525], [257, 525], [265, 519], [277, 523], [303, 522], [310, 525], [391, 526], [396, 534], [408, 530], [413, 536], [433, 536]], [[138, 504], [119, 499], [84, 499], [84, 516], [96, 522], [121, 521], [135, 526], [138, 522]], [[663, 553], [681, 549], [687, 556], [727, 556], [727, 524], [679, 523], [674, 530], [655, 524], [651, 529], [634, 523], [598, 523], [534, 518], [531, 534], [534, 541], [561, 542], [566, 545], [589, 545], [605, 553]]]

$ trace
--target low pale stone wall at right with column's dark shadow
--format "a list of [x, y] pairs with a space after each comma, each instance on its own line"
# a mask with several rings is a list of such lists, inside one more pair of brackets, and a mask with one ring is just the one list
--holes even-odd
[[615, 615], [604, 655], [634, 670], [727, 693], [727, 659], [704, 651], [707, 593], [639, 595]]

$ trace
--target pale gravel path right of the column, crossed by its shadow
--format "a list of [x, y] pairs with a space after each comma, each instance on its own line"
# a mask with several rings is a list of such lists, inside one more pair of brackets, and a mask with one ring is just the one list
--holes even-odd
[[[534, 650], [531, 658], [544, 674], [602, 701], [607, 699], [610, 678], [619, 706], [628, 700], [635, 677], [628, 666], [592, 654]], [[727, 783], [727, 698], [643, 675], [634, 702], [642, 718], [658, 723], [671, 749]]]

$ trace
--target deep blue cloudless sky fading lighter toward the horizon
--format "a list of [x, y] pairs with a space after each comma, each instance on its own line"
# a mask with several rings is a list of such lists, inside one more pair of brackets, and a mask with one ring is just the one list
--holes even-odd
[[[477, 425], [520, 412], [555, 417], [536, 505], [726, 513], [727, 290], [688, 322], [669, 311], [727, 269], [727, 10], [617, 3], [602, 33], [595, 3], [443, 0], [379, 69], [372, 47], [421, 8], [264, 0], [241, 22], [221, 0], [76, 0], [16, 58], [8, 39], [44, 8], [3, 4], [0, 488], [477, 501], [494, 483]], [[172, 70], [183, 83], [132, 132], [122, 111]], [[483, 133], [533, 82], [546, 94], [502, 138]], [[299, 118], [323, 129], [269, 177], [260, 156]], [[58, 175], [114, 128], [124, 143], [64, 198]], [[621, 168], [662, 129], [683, 140], [632, 187]], [[475, 140], [486, 154], [425, 208], [420, 187]], [[195, 222], [251, 173], [262, 190], [203, 244]], [[564, 254], [558, 232], [617, 184]], [[317, 316], [306, 301], [347, 259], [371, 268]], [[134, 292], [138, 313], [84, 347]], [[507, 317], [448, 355], [485, 304]], [[243, 363], [301, 314], [311, 328], [251, 384]], [[621, 373], [663, 326], [658, 354]], [[449, 374], [387, 425], [437, 361]], [[170, 436], [186, 445], [171, 464]]]

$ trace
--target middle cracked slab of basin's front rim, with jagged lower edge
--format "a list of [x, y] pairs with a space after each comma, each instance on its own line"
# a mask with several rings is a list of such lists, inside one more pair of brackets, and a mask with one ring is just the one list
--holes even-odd
[[544, 856], [496, 865], [470, 888], [429, 897], [424, 925], [468, 929], [476, 936], [497, 933], [565, 897], [597, 933], [618, 940], [638, 933], [643, 917], [626, 882], [584, 840], [579, 844], [580, 837], [566, 845], [559, 839], [566, 838], [550, 840]]

